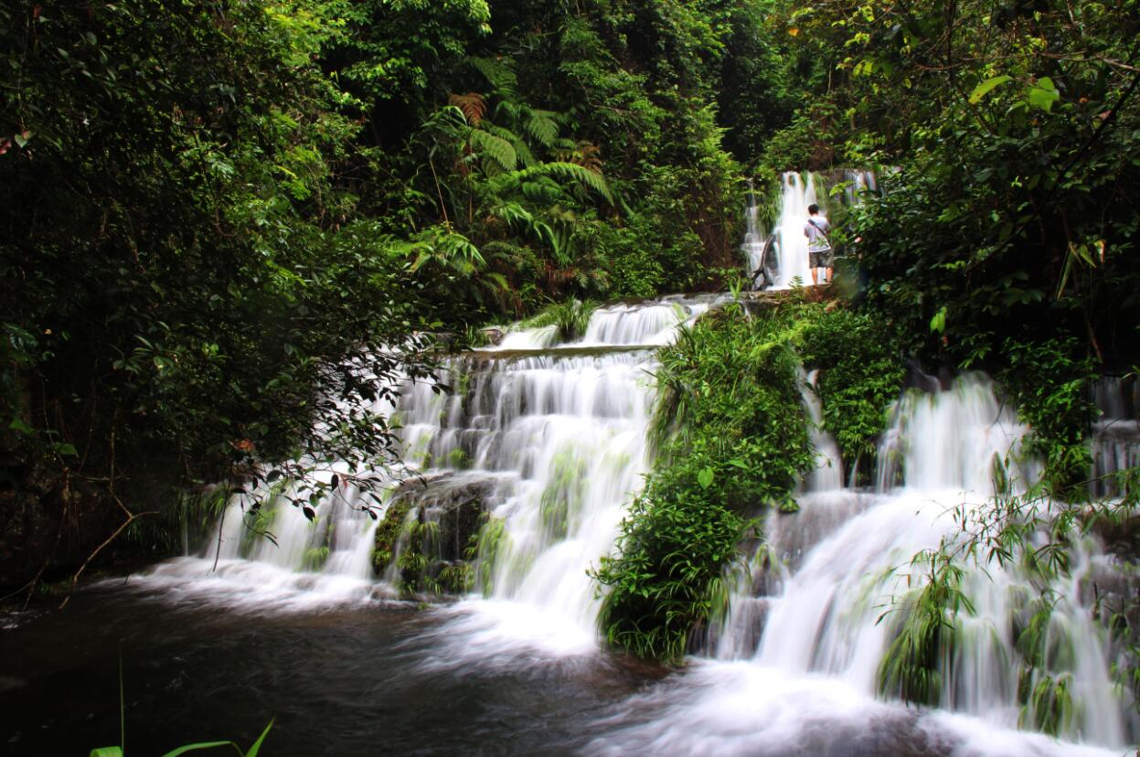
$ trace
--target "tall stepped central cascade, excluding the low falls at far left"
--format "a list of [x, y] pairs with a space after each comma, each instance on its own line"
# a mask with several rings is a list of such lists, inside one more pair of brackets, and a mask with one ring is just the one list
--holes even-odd
[[497, 601], [515, 626], [555, 625], [557, 637], [596, 649], [587, 570], [612, 548], [646, 470], [653, 350], [712, 300], [600, 308], [581, 339], [554, 347], [551, 327], [508, 332], [451, 365], [447, 380], [462, 391], [405, 394], [398, 413], [429, 490], [440, 475], [482, 487], [487, 522], [473, 568], [475, 589], [492, 602], [480, 608]]

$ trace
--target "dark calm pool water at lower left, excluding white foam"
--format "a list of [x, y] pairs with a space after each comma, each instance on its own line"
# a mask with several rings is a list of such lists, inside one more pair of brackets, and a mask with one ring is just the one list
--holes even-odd
[[87, 589], [0, 632], [0, 751], [117, 744], [120, 657], [127, 754], [139, 756], [245, 748], [270, 719], [266, 755], [573, 754], [591, 722], [653, 677], [596, 654], [440, 659], [446, 614], [397, 602], [258, 613]]

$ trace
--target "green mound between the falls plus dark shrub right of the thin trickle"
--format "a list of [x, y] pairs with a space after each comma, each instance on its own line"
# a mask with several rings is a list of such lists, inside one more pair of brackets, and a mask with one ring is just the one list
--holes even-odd
[[824, 426], [848, 455], [870, 456], [897, 396], [902, 361], [885, 327], [837, 303], [791, 301], [749, 314], [714, 310], [658, 353], [656, 464], [594, 571], [613, 646], [675, 661], [724, 608], [725, 570], [759, 539], [757, 516], [795, 512], [817, 464], [799, 393], [820, 368]]

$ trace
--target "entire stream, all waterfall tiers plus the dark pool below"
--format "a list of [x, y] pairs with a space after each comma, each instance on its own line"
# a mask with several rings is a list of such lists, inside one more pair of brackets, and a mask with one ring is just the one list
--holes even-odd
[[[849, 184], [873, 189], [873, 177]], [[816, 190], [809, 176], [784, 177], [781, 286], [808, 280], [798, 219]], [[755, 243], [755, 207], [750, 218]], [[408, 384], [381, 408], [402, 424], [408, 453], [385, 507], [414, 505], [408, 518], [433, 535], [439, 565], [471, 561], [470, 594], [401, 600], [407, 543], [376, 576], [383, 519], [355, 507], [351, 487], [315, 523], [267, 508], [260, 527], [276, 543], [231, 503], [203, 552], [81, 592], [68, 613], [8, 620], [5, 754], [116, 742], [120, 657], [128, 743], [141, 754], [249, 742], [270, 717], [271, 755], [1118, 755], [1133, 743], [1140, 723], [1110, 674], [1118, 650], [1094, 617], [1116, 571], [1093, 538], [1049, 587], [1036, 671], [1020, 662], [1019, 635], [1040, 593], [1016, 565], [990, 564], [956, 584], [968, 609], [954, 657], [939, 661], [942, 708], [878, 695], [880, 665], [931, 570], [912, 560], [953, 548], [962, 519], [984, 516], [995, 471], [1010, 495], [1036, 474], [1012, 462], [1026, 430], [983, 375], [904, 392], [868, 490], [846, 485], [804, 375], [820, 467], [799, 513], [767, 516], [764, 547], [732, 576], [726, 617], [676, 671], [602, 651], [587, 571], [612, 551], [649, 466], [654, 349], [718, 299], [606, 306], [573, 341], [553, 326], [507, 329], [442, 369], [453, 393]], [[1135, 394], [1118, 380], [1097, 388], [1099, 473], [1137, 463]], [[1024, 705], [1019, 689], [1058, 682], [1073, 701], [1060, 740], [1018, 730], [1044, 707]]]

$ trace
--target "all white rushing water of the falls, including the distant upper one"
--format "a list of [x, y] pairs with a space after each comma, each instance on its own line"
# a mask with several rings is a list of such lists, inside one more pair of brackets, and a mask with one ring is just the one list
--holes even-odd
[[[874, 188], [873, 176], [853, 173], [847, 185], [848, 202], [856, 202]], [[783, 177], [780, 286], [811, 280], [803, 225], [817, 200], [811, 176]], [[746, 252], [762, 237], [754, 205]], [[439, 546], [441, 560], [473, 560], [474, 592], [433, 610], [435, 652], [422, 667], [450, 676], [470, 666], [556, 668], [597, 654], [588, 569], [612, 551], [649, 465], [653, 350], [716, 300], [613, 303], [597, 309], [573, 342], [561, 342], [554, 326], [507, 328], [498, 344], [441, 371], [454, 393], [407, 384], [397, 406], [380, 408], [402, 423], [416, 473], [393, 498], [414, 504], [409, 520], [449, 535], [439, 538], [448, 543]], [[1026, 429], [985, 376], [967, 375], [904, 393], [880, 443], [876, 489], [850, 488], [834, 440], [820, 428], [814, 380], [800, 381], [817, 451], [817, 467], [797, 491], [800, 512], [766, 516], [766, 544], [728, 577], [730, 612], [708, 629], [703, 656], [601, 717], [586, 751], [1119, 754], [1140, 724], [1110, 675], [1117, 650], [1097, 619], [1097, 581], [1115, 571], [1092, 538], [1074, 545], [1067, 577], [1044, 587], [1016, 564], [967, 569], [958, 586], [966, 603], [946, 618], [953, 654], [936, 662], [940, 709], [881, 695], [880, 667], [930, 570], [915, 556], [961, 546], [962, 523], [982, 522], [993, 502], [996, 470], [1013, 482], [1012, 494], [1037, 471], [1012, 462]], [[1137, 462], [1135, 394], [1119, 380], [1097, 389], [1098, 472]], [[377, 526], [355, 506], [357, 497], [341, 487], [312, 523], [278, 500], [258, 523], [276, 543], [251, 532], [241, 504], [231, 503], [205, 553], [158, 565], [142, 580], [258, 609], [396, 597], [400, 567], [393, 561], [374, 576]], [[464, 518], [479, 522], [466, 531], [449, 526]], [[467, 537], [477, 530], [478, 544]], [[1021, 634], [1042, 588], [1054, 604], [1042, 626], [1041, 664], [1029, 668]], [[1018, 730], [1043, 714], [1024, 692], [1058, 684], [1073, 702], [1061, 740]]]

